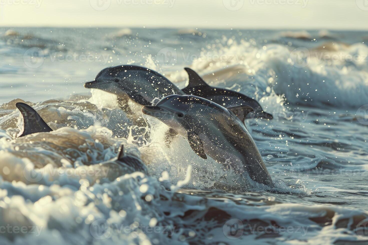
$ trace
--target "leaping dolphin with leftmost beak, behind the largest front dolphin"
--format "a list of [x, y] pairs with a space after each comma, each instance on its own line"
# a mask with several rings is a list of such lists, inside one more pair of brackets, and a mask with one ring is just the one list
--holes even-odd
[[84, 87], [116, 94], [118, 99], [130, 97], [141, 105], [152, 105], [153, 100], [171, 94], [184, 95], [183, 91], [158, 72], [137, 65], [105, 68], [94, 81], [85, 83]]

